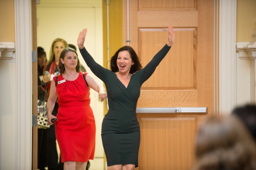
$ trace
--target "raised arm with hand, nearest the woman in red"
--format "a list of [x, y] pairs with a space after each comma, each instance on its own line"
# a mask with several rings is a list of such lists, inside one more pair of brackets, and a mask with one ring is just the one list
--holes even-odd
[[108, 72], [109, 70], [100, 66], [98, 63], [96, 63], [92, 58], [92, 56], [85, 49], [84, 40], [85, 40], [86, 32], [87, 32], [87, 29], [83, 29], [83, 31], [80, 32], [77, 38], [78, 48], [80, 50], [82, 57], [84, 58], [85, 63], [92, 70], [92, 73], [94, 73], [97, 77], [100, 78], [100, 80], [104, 82], [105, 81], [104, 73]]

